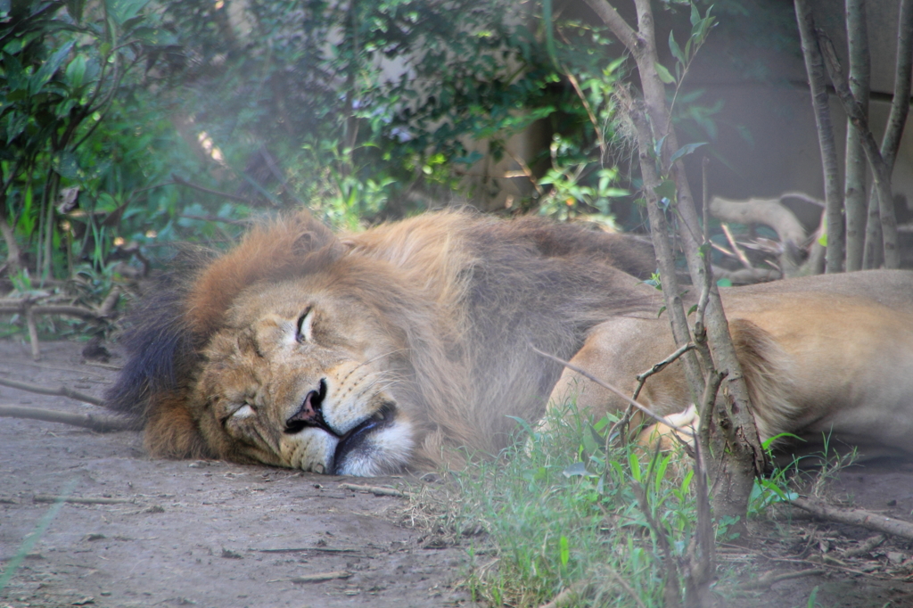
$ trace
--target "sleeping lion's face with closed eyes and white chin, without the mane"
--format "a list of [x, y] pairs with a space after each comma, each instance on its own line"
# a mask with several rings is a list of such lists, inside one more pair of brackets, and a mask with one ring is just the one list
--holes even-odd
[[217, 456], [391, 473], [409, 461], [416, 435], [412, 400], [398, 397], [403, 349], [376, 310], [326, 275], [269, 285], [229, 310], [189, 404]]

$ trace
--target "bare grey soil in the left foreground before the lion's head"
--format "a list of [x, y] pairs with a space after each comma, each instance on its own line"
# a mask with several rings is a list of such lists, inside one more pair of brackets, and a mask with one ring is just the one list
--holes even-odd
[[[100, 395], [114, 372], [84, 364], [81, 347], [45, 343], [33, 363], [27, 345], [0, 341], [0, 374]], [[100, 410], [2, 386], [0, 404]], [[75, 483], [72, 498], [122, 501], [64, 504], [0, 592], [0, 605], [467, 605], [467, 594], [451, 586], [465, 572], [466, 550], [424, 548], [421, 531], [387, 513], [403, 498], [341, 487], [352, 481], [151, 460], [137, 433], [0, 418], [4, 569], [52, 507], [40, 501], [46, 495]], [[404, 486], [398, 477], [354, 481]], [[307, 581], [315, 574], [328, 580]]]

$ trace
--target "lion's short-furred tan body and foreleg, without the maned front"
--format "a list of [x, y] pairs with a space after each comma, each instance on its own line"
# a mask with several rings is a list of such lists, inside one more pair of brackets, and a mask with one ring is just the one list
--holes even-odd
[[[858, 447], [913, 454], [913, 273], [872, 271], [722, 289], [762, 440], [802, 437], [802, 451]], [[572, 362], [623, 391], [675, 351], [666, 318], [619, 317], [594, 328]], [[600, 416], [614, 393], [565, 371], [551, 402], [576, 397]], [[660, 415], [690, 404], [682, 364], [649, 378], [640, 402]]]

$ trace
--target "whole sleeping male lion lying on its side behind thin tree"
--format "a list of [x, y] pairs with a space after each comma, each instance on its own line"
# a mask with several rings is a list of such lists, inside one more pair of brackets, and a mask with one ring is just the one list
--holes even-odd
[[[133, 314], [107, 397], [142, 419], [153, 456], [336, 475], [496, 454], [514, 422], [572, 387], [611, 395], [530, 346], [621, 388], [674, 350], [656, 267], [632, 236], [539, 219], [420, 215], [335, 236], [301, 213], [187, 262]], [[913, 452], [913, 273], [870, 271], [724, 290], [761, 439], [833, 432]], [[675, 365], [646, 384], [685, 410]]]

